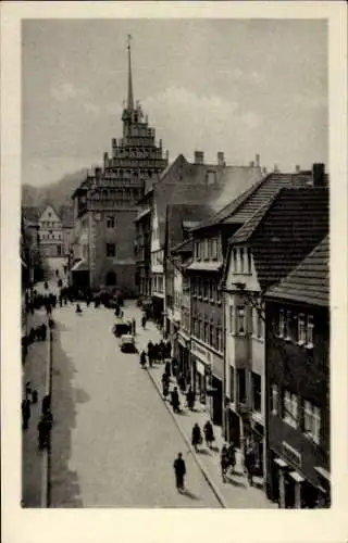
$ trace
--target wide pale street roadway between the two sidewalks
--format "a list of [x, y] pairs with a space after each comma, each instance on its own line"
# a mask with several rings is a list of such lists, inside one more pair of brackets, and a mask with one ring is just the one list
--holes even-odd
[[[121, 353], [113, 311], [82, 306], [54, 312], [51, 507], [220, 507], [139, 355]], [[135, 302], [124, 313], [139, 350], [157, 341]], [[186, 494], [174, 483], [178, 452]]]

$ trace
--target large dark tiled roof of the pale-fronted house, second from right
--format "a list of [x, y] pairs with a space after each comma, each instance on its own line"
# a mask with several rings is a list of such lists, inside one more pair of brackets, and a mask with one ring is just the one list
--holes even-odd
[[279, 281], [328, 232], [328, 189], [282, 189], [229, 240], [249, 244], [261, 289]]

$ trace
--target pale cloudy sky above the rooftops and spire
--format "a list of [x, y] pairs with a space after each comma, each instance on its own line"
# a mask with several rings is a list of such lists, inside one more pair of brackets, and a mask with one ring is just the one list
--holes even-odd
[[[283, 172], [328, 164], [324, 20], [27, 20], [22, 23], [22, 182], [101, 164], [133, 88], [157, 138], [192, 160]], [[328, 168], [328, 167], [327, 167]]]

